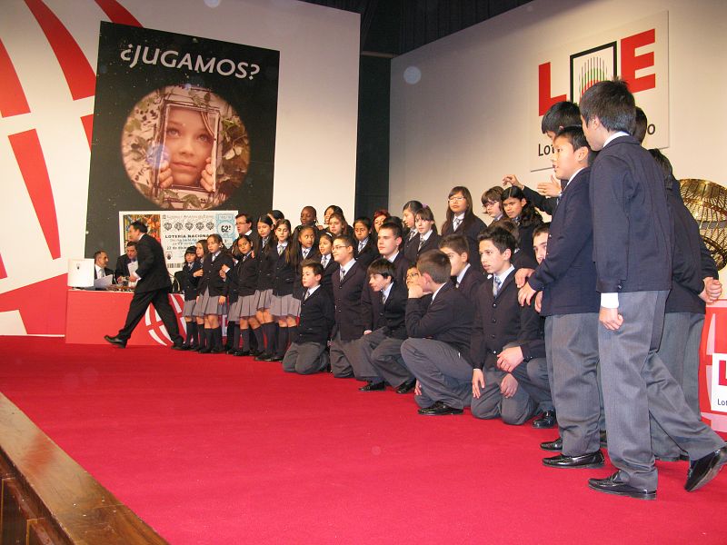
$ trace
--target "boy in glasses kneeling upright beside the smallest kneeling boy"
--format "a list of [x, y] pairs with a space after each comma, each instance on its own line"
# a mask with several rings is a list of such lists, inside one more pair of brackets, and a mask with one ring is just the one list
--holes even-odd
[[334, 260], [338, 272], [334, 273], [335, 328], [331, 341], [331, 371], [334, 377], [354, 376], [354, 365], [360, 357], [358, 339], [364, 334], [361, 318], [361, 292], [366, 283], [366, 272], [354, 259], [354, 241], [346, 234], [334, 239]]

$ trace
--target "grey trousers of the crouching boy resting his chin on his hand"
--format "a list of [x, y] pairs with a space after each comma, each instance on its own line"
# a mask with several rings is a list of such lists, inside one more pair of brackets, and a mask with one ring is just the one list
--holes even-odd
[[433, 339], [407, 339], [402, 343], [402, 357], [422, 386], [422, 395], [414, 396], [420, 407], [431, 407], [436, 401], [454, 409], [470, 404], [472, 365], [452, 346]]

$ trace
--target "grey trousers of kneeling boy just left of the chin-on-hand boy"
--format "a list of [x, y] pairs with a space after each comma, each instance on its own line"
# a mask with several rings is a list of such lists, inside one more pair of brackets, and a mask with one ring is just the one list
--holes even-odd
[[413, 379], [413, 374], [403, 363], [402, 343], [402, 339], [387, 337], [380, 329], [361, 338], [362, 359], [367, 362], [365, 369], [372, 373], [366, 380], [385, 381], [398, 388]]

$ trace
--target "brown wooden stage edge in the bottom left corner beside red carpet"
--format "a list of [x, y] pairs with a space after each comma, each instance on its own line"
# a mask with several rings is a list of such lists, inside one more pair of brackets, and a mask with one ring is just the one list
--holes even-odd
[[0, 542], [166, 543], [0, 393]]

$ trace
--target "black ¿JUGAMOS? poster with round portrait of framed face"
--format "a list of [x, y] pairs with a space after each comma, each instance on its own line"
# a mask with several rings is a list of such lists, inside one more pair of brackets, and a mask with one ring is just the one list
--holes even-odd
[[272, 208], [280, 53], [101, 23], [86, 253], [118, 212]]

